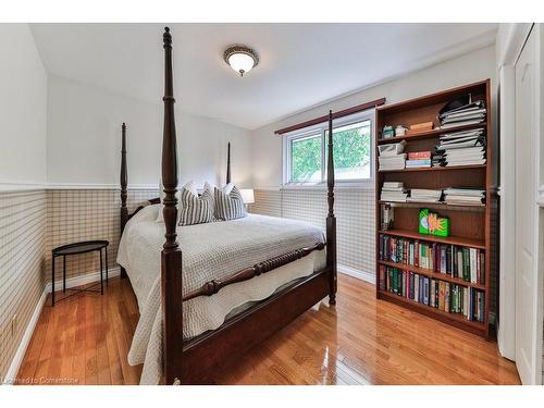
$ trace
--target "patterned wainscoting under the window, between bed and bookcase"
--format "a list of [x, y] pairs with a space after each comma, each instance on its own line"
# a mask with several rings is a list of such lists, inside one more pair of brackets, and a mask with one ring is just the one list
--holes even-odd
[[[324, 189], [257, 189], [251, 212], [308, 221], [325, 227]], [[343, 188], [335, 191], [338, 263], [373, 279], [375, 260], [374, 190]]]

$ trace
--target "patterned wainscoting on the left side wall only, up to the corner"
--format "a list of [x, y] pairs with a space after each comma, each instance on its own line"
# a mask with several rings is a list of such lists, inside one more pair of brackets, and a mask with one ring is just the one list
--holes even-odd
[[0, 193], [0, 384], [44, 293], [46, 211], [45, 190]]

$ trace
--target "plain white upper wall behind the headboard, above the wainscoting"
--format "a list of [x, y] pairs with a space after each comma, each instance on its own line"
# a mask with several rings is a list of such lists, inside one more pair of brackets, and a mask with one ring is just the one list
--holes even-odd
[[[128, 183], [157, 185], [163, 108], [70, 79], [49, 76], [48, 183], [118, 185], [121, 124], [127, 124]], [[232, 178], [250, 187], [249, 131], [176, 110], [181, 182], [224, 183], [226, 144]]]

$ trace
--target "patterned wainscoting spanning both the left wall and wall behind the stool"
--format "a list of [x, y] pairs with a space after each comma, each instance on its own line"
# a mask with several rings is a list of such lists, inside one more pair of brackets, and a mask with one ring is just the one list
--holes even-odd
[[[158, 195], [158, 189], [129, 189], [128, 211]], [[115, 268], [120, 207], [116, 189], [0, 193], [0, 383], [46, 284], [51, 282], [51, 249], [78, 240], [108, 239], [109, 268]], [[99, 270], [96, 252], [66, 259], [66, 280]], [[60, 280], [59, 262], [55, 281]], [[12, 330], [14, 316], [17, 324]]]

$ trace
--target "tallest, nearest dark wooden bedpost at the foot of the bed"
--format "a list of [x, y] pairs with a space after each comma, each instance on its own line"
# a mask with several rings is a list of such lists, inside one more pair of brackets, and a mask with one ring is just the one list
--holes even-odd
[[161, 305], [163, 319], [163, 376], [165, 384], [181, 384], [183, 347], [182, 250], [176, 240], [177, 144], [172, 78], [172, 36], [164, 28], [164, 128], [162, 138], [163, 215], [166, 233], [161, 252]]

